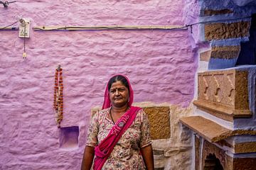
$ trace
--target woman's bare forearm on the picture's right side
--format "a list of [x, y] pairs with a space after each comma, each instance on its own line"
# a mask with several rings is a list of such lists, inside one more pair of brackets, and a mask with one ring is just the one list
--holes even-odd
[[151, 145], [147, 145], [146, 147], [142, 147], [141, 149], [142, 157], [144, 160], [144, 164], [146, 165], [147, 170], [154, 169], [154, 157], [153, 150]]

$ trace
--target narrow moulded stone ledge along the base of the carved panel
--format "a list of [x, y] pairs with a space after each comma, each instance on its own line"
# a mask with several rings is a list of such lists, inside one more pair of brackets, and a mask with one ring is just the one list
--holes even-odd
[[193, 104], [199, 109], [223, 120], [233, 121], [234, 118], [250, 118], [252, 116], [250, 110], [237, 110], [221, 103], [197, 100], [193, 101]]

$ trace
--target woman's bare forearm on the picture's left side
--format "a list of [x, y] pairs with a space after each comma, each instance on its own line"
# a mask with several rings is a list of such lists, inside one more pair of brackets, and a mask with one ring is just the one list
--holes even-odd
[[85, 152], [82, 157], [81, 170], [90, 170], [95, 155], [94, 147], [85, 146]]

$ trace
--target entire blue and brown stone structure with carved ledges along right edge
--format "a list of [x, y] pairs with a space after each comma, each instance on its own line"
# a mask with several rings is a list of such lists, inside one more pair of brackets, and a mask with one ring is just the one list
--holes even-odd
[[[255, 66], [236, 66], [255, 64], [255, 52], [250, 49], [255, 49], [256, 3], [235, 0], [187, 2], [198, 2], [199, 6], [199, 10], [187, 8], [185, 11], [188, 23], [199, 22], [191, 30], [191, 40], [198, 47], [200, 58], [196, 82], [198, 96], [193, 102], [197, 108], [193, 116], [181, 119], [196, 133], [194, 169], [220, 169], [220, 166], [223, 169], [251, 169], [255, 160], [255, 135], [252, 135], [256, 132], [255, 79], [252, 78]], [[246, 44], [247, 41], [252, 44]], [[241, 55], [244, 49], [248, 52]], [[244, 59], [238, 62], [241, 56]], [[247, 56], [252, 60], [248, 62]], [[233, 67], [238, 72], [231, 71]], [[198, 118], [204, 122], [195, 122]], [[213, 128], [214, 123], [223, 130]], [[223, 132], [222, 139], [213, 142], [218, 135], [212, 132]]]

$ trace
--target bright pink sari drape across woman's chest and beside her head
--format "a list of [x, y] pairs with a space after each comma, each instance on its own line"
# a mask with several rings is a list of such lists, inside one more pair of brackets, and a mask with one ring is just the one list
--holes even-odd
[[[125, 78], [127, 79], [127, 77]], [[112, 150], [114, 149], [114, 146], [117, 144], [118, 140], [122, 137], [124, 132], [129, 128], [129, 126], [132, 125], [132, 122], [136, 118], [137, 112], [141, 109], [139, 107], [132, 106], [133, 90], [128, 79], [127, 82], [129, 84], [128, 105], [130, 108], [126, 113], [124, 113], [124, 115], [122, 115], [121, 118], [119, 118], [119, 120], [117, 120], [107, 137], [105, 137], [105, 139], [100, 142], [100, 145], [95, 147], [95, 160], [93, 165], [93, 169], [95, 170], [102, 169], [102, 166], [105, 164], [107, 158], [110, 156]], [[105, 100], [102, 109], [109, 108], [110, 106], [110, 94], [107, 86], [105, 90]]]

